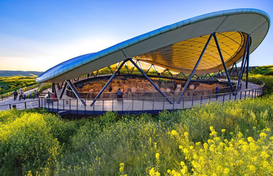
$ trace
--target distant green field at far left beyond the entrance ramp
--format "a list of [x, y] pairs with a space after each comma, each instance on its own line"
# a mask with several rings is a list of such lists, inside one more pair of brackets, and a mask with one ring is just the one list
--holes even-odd
[[19, 88], [36, 85], [36, 77], [0, 77], [0, 94], [5, 94], [19, 90]]

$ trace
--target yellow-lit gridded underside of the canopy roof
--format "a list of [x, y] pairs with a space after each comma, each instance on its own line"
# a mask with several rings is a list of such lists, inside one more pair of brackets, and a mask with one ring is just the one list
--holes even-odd
[[[232, 60], [244, 45], [244, 34], [241, 32], [217, 33], [217, 40], [225, 62]], [[174, 43], [159, 49], [146, 52], [132, 59], [147, 61], [148, 63], [159, 64], [182, 70], [193, 70], [203, 48], [208, 41], [209, 35], [191, 38]], [[239, 58], [237, 59], [237, 61]], [[209, 45], [196, 69], [210, 70], [222, 65], [214, 38]]]

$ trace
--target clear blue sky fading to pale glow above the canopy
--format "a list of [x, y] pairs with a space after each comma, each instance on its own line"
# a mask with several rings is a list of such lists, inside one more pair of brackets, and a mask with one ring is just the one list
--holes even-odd
[[[235, 8], [263, 10], [273, 0], [0, 0], [0, 70], [45, 71], [165, 25]], [[250, 55], [272, 65], [273, 32]]]

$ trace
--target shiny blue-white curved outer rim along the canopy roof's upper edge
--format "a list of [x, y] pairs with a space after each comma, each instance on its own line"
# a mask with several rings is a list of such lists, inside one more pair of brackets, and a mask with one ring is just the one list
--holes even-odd
[[[88, 56], [82, 55], [82, 56], [78, 56], [78, 57], [83, 57], [81, 59], [78, 59], [76, 61], [73, 61], [71, 63], [69, 63], [68, 65], [64, 65], [61, 66], [61, 64], [64, 64], [65, 62], [62, 62], [61, 64], [58, 64], [54, 67], [52, 67], [51, 69], [45, 71], [44, 73], [40, 74], [37, 78], [36, 78], [36, 82], [41, 83], [41, 82], [45, 82], [48, 81], [50, 79], [53, 79], [57, 76], [60, 76], [62, 74], [65, 74], [71, 70], [74, 70], [82, 65], [85, 65], [87, 63], [90, 63], [92, 61], [96, 61], [97, 59], [100, 59], [104, 56], [110, 55], [111, 53], [120, 51], [124, 48], [127, 48], [129, 46], [132, 46], [134, 44], [137, 44], [139, 42], [142, 42], [146, 39], [158, 36], [160, 34], [175, 30], [177, 28], [181, 28], [183, 26], [186, 25], [190, 25], [199, 21], [203, 21], [203, 20], [208, 20], [211, 18], [216, 18], [216, 17], [221, 17], [221, 16], [227, 16], [227, 15], [234, 15], [234, 14], [241, 14], [241, 13], [256, 13], [256, 14], [260, 14], [264, 17], [266, 17], [268, 23], [269, 23], [269, 27], [271, 25], [271, 19], [269, 17], [269, 15], [261, 10], [258, 9], [251, 9], [251, 8], [242, 8], [242, 9], [232, 9], [232, 10], [224, 10], [224, 11], [217, 11], [217, 12], [212, 12], [212, 13], [208, 13], [208, 14], [204, 14], [204, 15], [200, 15], [200, 16], [196, 16], [187, 20], [183, 20], [177, 23], [174, 23], [172, 25], [167, 25], [164, 27], [161, 27], [159, 29], [155, 29], [153, 31], [150, 31], [148, 33], [139, 35], [137, 37], [128, 39], [124, 42], [118, 43], [114, 46], [111, 46], [109, 48], [106, 48], [104, 50], [101, 50], [99, 52], [96, 53], [92, 53], [92, 54], [87, 54]], [[78, 58], [75, 57], [75, 58]], [[73, 58], [74, 59], [74, 58]], [[68, 60], [69, 61], [69, 60]]]

